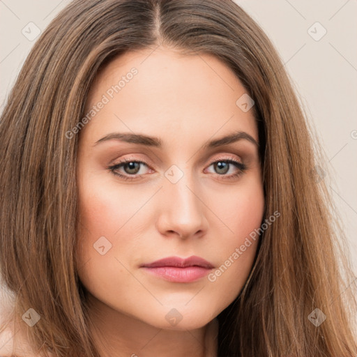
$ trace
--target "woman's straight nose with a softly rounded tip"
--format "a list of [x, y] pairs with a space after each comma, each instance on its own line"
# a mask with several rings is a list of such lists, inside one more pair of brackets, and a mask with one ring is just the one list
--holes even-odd
[[204, 204], [202, 192], [188, 175], [183, 175], [176, 183], [165, 181], [160, 191], [157, 228], [163, 236], [187, 239], [206, 234], [208, 208]]

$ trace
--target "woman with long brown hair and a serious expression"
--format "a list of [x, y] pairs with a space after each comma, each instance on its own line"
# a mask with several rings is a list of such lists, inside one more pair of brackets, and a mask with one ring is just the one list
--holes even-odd
[[319, 155], [233, 1], [73, 1], [0, 134], [2, 355], [356, 356]]

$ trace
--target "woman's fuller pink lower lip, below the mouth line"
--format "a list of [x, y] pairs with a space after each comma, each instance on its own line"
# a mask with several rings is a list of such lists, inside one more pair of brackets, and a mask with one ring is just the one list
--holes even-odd
[[211, 270], [203, 268], [202, 266], [186, 266], [185, 268], [177, 268], [175, 266], [149, 268], [144, 266], [144, 269], [169, 282], [194, 282], [195, 280], [203, 278]]

